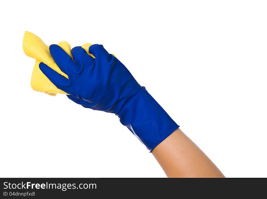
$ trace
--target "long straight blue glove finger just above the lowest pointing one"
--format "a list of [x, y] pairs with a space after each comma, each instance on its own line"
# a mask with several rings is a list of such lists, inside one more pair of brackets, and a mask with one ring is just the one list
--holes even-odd
[[72, 58], [59, 46], [52, 44], [49, 46], [50, 54], [56, 62], [56, 65], [65, 74], [71, 74], [73, 69], [79, 70], [79, 66], [72, 60]]

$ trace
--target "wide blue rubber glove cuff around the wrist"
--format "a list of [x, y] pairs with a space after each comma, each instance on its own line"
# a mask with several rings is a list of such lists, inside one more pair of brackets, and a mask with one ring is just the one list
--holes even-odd
[[179, 128], [145, 87], [117, 115], [149, 152]]

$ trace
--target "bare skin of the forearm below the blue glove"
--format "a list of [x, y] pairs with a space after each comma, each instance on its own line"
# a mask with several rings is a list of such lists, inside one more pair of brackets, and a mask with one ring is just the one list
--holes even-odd
[[225, 177], [180, 128], [158, 144], [152, 154], [167, 177]]

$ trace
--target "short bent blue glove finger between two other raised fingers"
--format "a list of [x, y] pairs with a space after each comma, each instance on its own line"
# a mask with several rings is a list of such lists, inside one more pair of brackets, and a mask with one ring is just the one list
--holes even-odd
[[95, 61], [95, 59], [88, 55], [81, 46], [76, 46], [71, 49], [71, 54], [73, 56], [73, 60], [79, 65], [82, 65], [82, 63], [92, 65]]

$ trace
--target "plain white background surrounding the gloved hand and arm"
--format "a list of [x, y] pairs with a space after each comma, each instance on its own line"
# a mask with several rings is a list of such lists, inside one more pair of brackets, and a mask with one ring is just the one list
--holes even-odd
[[99, 43], [226, 177], [267, 177], [266, 1], [3, 1], [1, 177], [166, 177], [113, 114], [30, 87], [25, 30]]

